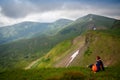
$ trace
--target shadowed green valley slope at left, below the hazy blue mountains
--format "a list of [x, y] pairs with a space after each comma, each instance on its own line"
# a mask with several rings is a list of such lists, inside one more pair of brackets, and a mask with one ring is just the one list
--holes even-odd
[[24, 68], [63, 40], [54, 38], [53, 36], [41, 36], [0, 45], [0, 67]]

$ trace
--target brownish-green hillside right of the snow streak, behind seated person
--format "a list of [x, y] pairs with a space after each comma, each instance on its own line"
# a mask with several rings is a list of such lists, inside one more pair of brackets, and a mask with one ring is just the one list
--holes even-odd
[[86, 34], [86, 50], [71, 65], [87, 66], [101, 56], [105, 66], [120, 66], [120, 29], [89, 31]]

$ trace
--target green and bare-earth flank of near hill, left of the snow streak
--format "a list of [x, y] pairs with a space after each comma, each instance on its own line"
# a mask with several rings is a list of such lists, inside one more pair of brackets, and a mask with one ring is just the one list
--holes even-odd
[[[79, 42], [77, 42], [79, 40]], [[64, 63], [61, 62], [62, 65], [58, 64], [64, 57], [68, 57], [68, 55], [72, 54], [74, 51], [83, 47], [85, 43], [84, 36], [78, 36], [75, 39], [65, 40], [59, 44], [57, 44], [52, 50], [50, 50], [45, 56], [40, 58], [40, 60], [32, 66], [32, 68], [44, 68], [44, 67], [65, 67], [66, 60]], [[70, 56], [69, 55], [69, 56]], [[66, 62], [66, 63], [65, 63]]]

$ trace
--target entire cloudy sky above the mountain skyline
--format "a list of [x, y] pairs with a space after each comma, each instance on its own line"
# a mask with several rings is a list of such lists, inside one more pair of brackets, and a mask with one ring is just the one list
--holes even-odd
[[23, 21], [76, 20], [87, 14], [120, 19], [120, 0], [0, 0], [0, 27]]

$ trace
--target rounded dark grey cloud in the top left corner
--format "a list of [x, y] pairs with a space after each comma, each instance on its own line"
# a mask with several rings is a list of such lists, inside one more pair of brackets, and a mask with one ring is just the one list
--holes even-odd
[[[10, 1], [10, 0], [9, 0]], [[1, 5], [1, 13], [10, 18], [25, 17], [35, 10], [33, 5], [23, 3], [19, 0], [13, 0]]]

